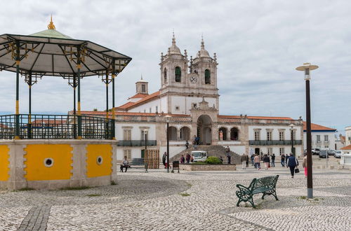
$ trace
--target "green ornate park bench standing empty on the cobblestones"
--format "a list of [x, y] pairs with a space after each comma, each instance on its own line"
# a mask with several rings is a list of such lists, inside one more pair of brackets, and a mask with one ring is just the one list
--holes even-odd
[[237, 202], [237, 207], [239, 207], [240, 202], [250, 202], [253, 208], [256, 208], [253, 204], [253, 195], [258, 193], [263, 193], [262, 200], [264, 200], [265, 195], [273, 195], [275, 200], [278, 200], [277, 193], [275, 191], [275, 186], [278, 181], [277, 176], [266, 176], [259, 179], [253, 179], [249, 187], [241, 186], [237, 184], [237, 197], [239, 201]]

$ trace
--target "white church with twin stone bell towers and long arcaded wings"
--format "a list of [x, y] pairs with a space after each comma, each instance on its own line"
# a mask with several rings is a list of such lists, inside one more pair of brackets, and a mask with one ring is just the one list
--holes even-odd
[[[296, 155], [303, 153], [303, 121], [289, 117], [225, 116], [219, 113], [217, 57], [211, 57], [204, 40], [193, 58], [172, 45], [161, 53], [159, 91], [149, 94], [147, 81], [135, 83], [135, 94], [116, 113], [117, 160], [141, 158], [146, 148], [166, 151], [166, 125], [170, 158], [190, 145], [194, 136], [201, 145], [229, 146], [243, 153], [291, 153], [291, 135]], [[102, 111], [83, 114], [104, 116]], [[170, 117], [168, 117], [170, 116]], [[146, 141], [145, 141], [146, 139]]]

